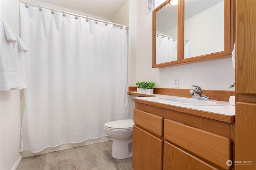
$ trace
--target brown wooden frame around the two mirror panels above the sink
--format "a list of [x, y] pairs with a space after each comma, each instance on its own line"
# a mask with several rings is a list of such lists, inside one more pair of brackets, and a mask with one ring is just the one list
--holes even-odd
[[223, 59], [232, 56], [235, 42], [235, 0], [224, 0], [224, 51], [191, 57], [184, 59], [184, 0], [178, 0], [178, 51], [177, 60], [166, 63], [156, 64], [156, 12], [168, 4], [166, 0], [153, 11], [153, 30], [152, 30], [152, 68], [168, 67], [180, 64], [196, 63], [200, 61], [210, 61]]

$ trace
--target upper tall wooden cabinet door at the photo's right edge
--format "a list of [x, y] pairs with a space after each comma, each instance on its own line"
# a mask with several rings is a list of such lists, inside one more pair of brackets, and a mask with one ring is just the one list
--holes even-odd
[[256, 94], [256, 1], [236, 1], [236, 92]]

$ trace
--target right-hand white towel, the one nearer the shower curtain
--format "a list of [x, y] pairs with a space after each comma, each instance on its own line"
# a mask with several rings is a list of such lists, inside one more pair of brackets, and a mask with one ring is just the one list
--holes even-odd
[[[17, 76], [18, 76], [18, 87], [11, 88], [11, 90], [20, 90], [27, 87], [27, 77], [26, 77], [26, 67], [25, 67], [25, 56], [24, 53], [28, 51], [23, 41], [18, 35], [16, 35], [18, 43], [13, 44], [14, 49], [14, 59], [17, 67]], [[24, 53], [23, 53], [24, 52]]]

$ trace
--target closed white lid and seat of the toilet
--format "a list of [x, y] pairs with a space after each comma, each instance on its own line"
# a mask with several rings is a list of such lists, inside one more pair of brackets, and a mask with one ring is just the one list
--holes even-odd
[[111, 130], [129, 130], [132, 129], [134, 122], [132, 119], [110, 121], [104, 124], [106, 129]]

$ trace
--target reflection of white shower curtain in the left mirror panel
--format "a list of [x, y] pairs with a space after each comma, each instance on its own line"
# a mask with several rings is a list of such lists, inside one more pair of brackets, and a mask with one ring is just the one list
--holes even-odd
[[156, 64], [177, 60], [177, 40], [156, 35]]

